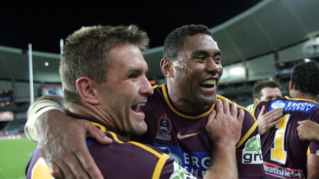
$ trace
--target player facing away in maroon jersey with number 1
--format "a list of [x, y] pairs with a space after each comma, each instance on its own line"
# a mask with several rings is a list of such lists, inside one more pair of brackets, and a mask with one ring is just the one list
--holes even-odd
[[254, 108], [255, 116], [265, 107], [266, 112], [277, 108], [284, 111], [280, 122], [262, 135], [264, 167], [269, 179], [319, 179], [319, 141], [300, 140], [297, 131], [303, 120], [319, 123], [318, 77], [317, 62], [305, 59], [293, 69], [290, 97], [261, 101]]

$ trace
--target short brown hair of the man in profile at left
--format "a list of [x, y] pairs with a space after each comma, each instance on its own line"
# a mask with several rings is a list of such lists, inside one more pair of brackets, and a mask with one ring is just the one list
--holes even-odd
[[65, 40], [60, 62], [64, 100], [80, 104], [76, 81], [86, 76], [96, 83], [106, 82], [106, 72], [113, 59], [108, 51], [117, 45], [132, 44], [140, 50], [148, 47], [146, 32], [135, 25], [82, 27]]

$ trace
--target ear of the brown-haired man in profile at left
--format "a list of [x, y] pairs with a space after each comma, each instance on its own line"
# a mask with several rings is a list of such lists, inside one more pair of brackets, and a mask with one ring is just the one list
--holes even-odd
[[95, 82], [87, 77], [80, 77], [77, 79], [77, 90], [81, 99], [87, 103], [97, 105], [100, 104], [98, 99], [98, 92], [95, 89]]

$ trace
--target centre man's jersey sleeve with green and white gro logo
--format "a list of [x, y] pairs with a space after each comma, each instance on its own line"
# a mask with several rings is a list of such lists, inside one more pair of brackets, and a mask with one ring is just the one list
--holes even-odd
[[263, 179], [265, 170], [258, 123], [250, 111], [244, 109], [244, 112], [241, 136], [236, 146], [239, 179]]

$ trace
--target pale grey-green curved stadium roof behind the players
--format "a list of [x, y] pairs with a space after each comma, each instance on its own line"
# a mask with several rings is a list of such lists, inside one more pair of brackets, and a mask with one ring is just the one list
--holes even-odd
[[[211, 31], [223, 51], [222, 63], [225, 66], [244, 62], [314, 39], [319, 36], [318, 7], [318, 0], [264, 0], [214, 26]], [[144, 57], [149, 65], [149, 77], [163, 78], [160, 71], [162, 47], [149, 49]], [[27, 81], [27, 59], [25, 49], [0, 46], [0, 79]], [[49, 66], [45, 67], [45, 62]], [[33, 51], [34, 81], [59, 83], [58, 63], [57, 53]]]

